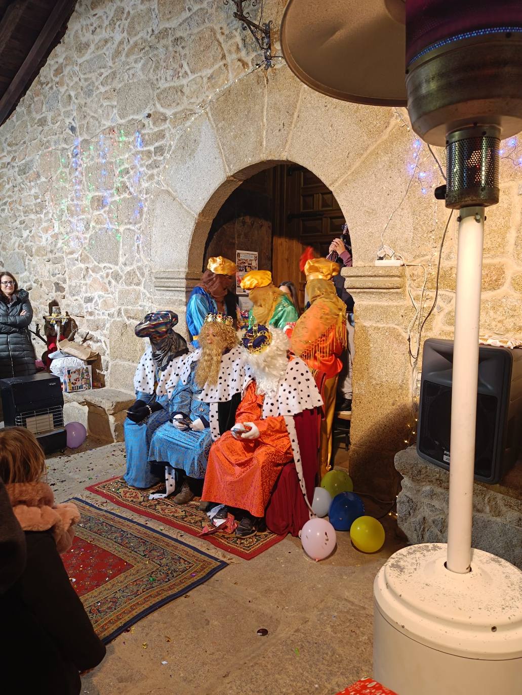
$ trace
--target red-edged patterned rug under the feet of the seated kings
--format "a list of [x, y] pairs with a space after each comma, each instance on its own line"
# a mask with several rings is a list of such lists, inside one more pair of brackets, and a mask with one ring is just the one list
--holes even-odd
[[[159, 488], [161, 485], [156, 487]], [[169, 498], [149, 500], [149, 494], [156, 487], [138, 490], [135, 487], [129, 487], [122, 477], [113, 477], [90, 485], [86, 490], [100, 495], [106, 500], [111, 500], [115, 505], [131, 509], [136, 514], [148, 516], [148, 518], [161, 521], [161, 523], [178, 528], [192, 536], [197, 536], [203, 530], [205, 523], [208, 522], [205, 512], [200, 512], [198, 509], [199, 500], [193, 500], [188, 505], [175, 505]], [[234, 534], [217, 532], [204, 538], [216, 548], [250, 560], [282, 541], [284, 536], [267, 531], [266, 533], [256, 533], [255, 536], [248, 538], [236, 538]]]

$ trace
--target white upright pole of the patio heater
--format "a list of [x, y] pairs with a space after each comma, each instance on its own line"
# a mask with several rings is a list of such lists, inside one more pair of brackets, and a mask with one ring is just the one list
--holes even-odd
[[455, 293], [446, 561], [447, 568], [459, 574], [469, 572], [471, 562], [483, 245], [484, 208], [461, 208]]

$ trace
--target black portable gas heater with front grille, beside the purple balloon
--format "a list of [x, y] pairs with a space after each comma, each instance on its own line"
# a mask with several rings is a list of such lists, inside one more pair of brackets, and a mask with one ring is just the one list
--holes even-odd
[[65, 449], [63, 393], [59, 377], [41, 372], [30, 377], [0, 379], [3, 424], [26, 427], [46, 454]]

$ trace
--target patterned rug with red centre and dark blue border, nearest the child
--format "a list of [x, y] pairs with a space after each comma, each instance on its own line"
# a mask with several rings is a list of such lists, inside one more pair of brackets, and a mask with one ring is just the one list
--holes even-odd
[[227, 566], [149, 526], [71, 501], [81, 520], [63, 564], [105, 643]]

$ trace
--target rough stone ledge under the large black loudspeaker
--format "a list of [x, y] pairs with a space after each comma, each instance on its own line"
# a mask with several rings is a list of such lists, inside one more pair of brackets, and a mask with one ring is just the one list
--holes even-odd
[[[448, 539], [450, 473], [420, 459], [411, 447], [395, 457], [402, 490], [397, 523], [410, 543], [445, 543]], [[522, 466], [502, 485], [475, 482], [473, 548], [486, 550], [522, 569]]]

